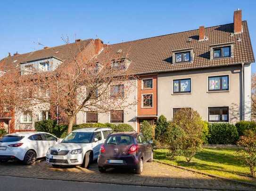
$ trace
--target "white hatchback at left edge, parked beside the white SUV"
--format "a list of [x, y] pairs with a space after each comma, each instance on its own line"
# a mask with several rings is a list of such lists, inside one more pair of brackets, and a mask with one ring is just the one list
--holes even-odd
[[45, 132], [17, 132], [0, 138], [0, 162], [22, 160], [25, 164], [33, 164], [37, 158], [46, 156], [50, 146], [56, 145], [60, 139]]

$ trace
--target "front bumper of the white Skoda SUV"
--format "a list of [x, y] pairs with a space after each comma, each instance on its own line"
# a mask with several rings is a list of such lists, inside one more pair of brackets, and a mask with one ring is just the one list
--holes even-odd
[[66, 154], [65, 156], [46, 155], [46, 162], [52, 165], [81, 165], [83, 164], [83, 154]]

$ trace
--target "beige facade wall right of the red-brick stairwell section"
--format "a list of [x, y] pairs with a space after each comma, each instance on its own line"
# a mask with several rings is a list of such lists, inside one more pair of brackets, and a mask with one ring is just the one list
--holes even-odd
[[[208, 107], [229, 107], [229, 122], [242, 119], [241, 65], [158, 74], [158, 116], [173, 118], [173, 108], [191, 107], [208, 121]], [[208, 76], [229, 76], [229, 91], [208, 92]], [[249, 74], [246, 74], [250, 76]], [[191, 93], [173, 94], [173, 80], [191, 78]]]

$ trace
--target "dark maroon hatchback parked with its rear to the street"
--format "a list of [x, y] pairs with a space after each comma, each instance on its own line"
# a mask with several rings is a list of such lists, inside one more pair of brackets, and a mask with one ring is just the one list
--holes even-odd
[[138, 132], [113, 133], [100, 147], [98, 167], [100, 172], [107, 168], [131, 168], [141, 174], [147, 161], [153, 161], [151, 140]]

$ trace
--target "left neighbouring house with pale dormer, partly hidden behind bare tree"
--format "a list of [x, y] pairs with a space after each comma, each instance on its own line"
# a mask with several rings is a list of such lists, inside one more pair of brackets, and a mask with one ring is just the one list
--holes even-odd
[[[102, 46], [103, 43], [99, 39], [77, 39], [75, 43], [44, 47], [31, 53], [15, 53], [13, 56], [9, 54], [0, 61], [0, 66], [3, 65], [8, 70], [18, 68], [21, 71], [20, 75], [28, 75], [33, 69], [42, 72], [54, 71], [60, 64], [73, 61], [79, 52], [84, 51], [87, 55], [94, 56], [99, 53]], [[34, 130], [34, 122], [50, 117], [49, 104], [35, 106], [30, 112], [19, 111], [17, 108], [10, 111], [0, 108], [0, 128], [5, 128], [9, 133]]]

